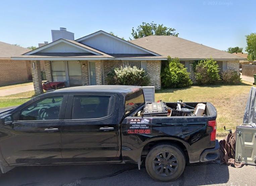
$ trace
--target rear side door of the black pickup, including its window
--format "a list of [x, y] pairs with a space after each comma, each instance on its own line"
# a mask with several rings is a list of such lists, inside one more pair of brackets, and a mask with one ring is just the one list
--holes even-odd
[[118, 160], [118, 101], [115, 94], [69, 95], [61, 129], [64, 162]]

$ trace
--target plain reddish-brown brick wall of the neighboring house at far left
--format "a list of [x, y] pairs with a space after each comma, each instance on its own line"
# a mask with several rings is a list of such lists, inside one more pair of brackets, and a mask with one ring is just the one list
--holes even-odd
[[28, 73], [26, 61], [0, 60], [0, 85], [27, 82]]

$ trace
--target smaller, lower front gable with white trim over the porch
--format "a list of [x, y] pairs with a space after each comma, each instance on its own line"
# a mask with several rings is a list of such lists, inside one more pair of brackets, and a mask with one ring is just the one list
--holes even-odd
[[57, 41], [39, 47], [33, 51], [27, 52], [24, 55], [32, 55], [36, 53], [91, 53], [93, 55], [104, 54], [81, 43], [66, 39], [59, 39]]

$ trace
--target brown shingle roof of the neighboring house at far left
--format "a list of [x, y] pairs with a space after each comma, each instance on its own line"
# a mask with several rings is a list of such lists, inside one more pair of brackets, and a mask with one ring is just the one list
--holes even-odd
[[12, 56], [18, 56], [29, 51], [30, 49], [0, 42], [0, 58], [11, 58]]

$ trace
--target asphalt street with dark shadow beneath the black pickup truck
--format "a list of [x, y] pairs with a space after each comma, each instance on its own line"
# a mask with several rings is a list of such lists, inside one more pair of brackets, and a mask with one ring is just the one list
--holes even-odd
[[1, 186], [38, 185], [255, 185], [256, 167], [233, 168], [218, 164], [194, 164], [185, 168], [184, 174], [174, 182], [152, 180], [145, 167], [136, 165], [84, 165], [17, 167], [1, 175]]

